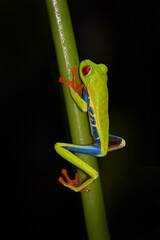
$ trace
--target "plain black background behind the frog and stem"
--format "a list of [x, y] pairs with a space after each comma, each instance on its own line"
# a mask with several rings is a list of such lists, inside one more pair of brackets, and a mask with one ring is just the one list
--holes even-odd
[[[99, 159], [113, 240], [159, 240], [158, 0], [69, 0], [80, 60], [109, 68], [110, 132], [125, 149]], [[81, 199], [58, 183], [72, 167], [45, 1], [0, 3], [0, 234], [87, 239]], [[93, 213], [94, 214], [94, 213]]]

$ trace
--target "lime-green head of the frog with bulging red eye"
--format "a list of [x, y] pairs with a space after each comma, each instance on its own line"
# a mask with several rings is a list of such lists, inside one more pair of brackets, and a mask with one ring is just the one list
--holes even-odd
[[107, 81], [108, 68], [104, 64], [96, 64], [90, 60], [84, 60], [80, 63], [80, 77], [85, 86], [91, 81]]

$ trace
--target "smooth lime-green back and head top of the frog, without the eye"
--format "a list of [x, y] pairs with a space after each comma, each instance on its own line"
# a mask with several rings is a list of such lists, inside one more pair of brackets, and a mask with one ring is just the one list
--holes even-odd
[[[83, 76], [81, 73], [81, 69], [85, 65], [92, 67], [88, 76]], [[102, 156], [107, 154], [109, 140], [107, 70], [104, 64], [95, 64], [90, 60], [85, 60], [80, 65], [80, 75], [87, 87], [90, 104], [95, 113], [94, 117], [101, 141]]]

